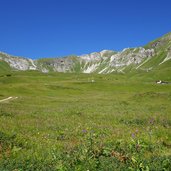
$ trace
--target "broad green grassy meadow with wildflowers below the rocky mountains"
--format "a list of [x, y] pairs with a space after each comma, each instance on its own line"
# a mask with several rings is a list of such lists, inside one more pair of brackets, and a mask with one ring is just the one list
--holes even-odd
[[9, 72], [0, 100], [18, 98], [0, 102], [0, 170], [171, 170], [171, 84], [155, 84], [171, 81], [169, 67]]

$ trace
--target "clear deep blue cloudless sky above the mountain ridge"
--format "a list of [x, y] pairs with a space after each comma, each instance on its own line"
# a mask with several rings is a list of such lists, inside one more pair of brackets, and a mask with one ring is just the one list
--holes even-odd
[[171, 0], [0, 0], [0, 51], [30, 58], [145, 45], [171, 31]]

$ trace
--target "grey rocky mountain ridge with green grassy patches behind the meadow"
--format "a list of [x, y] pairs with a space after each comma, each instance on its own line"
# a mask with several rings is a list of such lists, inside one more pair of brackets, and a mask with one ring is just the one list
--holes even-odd
[[[121, 52], [103, 50], [82, 56], [42, 58], [32, 60], [13, 57], [0, 52], [0, 60], [15, 70], [39, 70], [41, 72], [112, 73], [150, 71], [170, 67], [171, 33], [158, 38], [144, 47], [126, 48]], [[168, 65], [167, 65], [168, 63]]]

